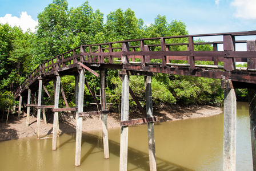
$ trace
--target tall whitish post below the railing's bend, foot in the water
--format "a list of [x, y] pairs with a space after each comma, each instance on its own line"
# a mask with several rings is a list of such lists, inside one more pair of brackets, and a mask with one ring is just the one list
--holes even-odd
[[[77, 112], [83, 112], [83, 95], [85, 90], [85, 72], [80, 70], [79, 75], [79, 92], [78, 92], [78, 109]], [[82, 121], [83, 117], [77, 119], [77, 138], [75, 140], [75, 166], [81, 162], [81, 143], [82, 143]]]

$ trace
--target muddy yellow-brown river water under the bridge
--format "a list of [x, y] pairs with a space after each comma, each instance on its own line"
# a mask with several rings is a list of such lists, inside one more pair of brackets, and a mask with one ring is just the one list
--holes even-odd
[[[237, 105], [237, 170], [253, 170], [247, 103]], [[81, 166], [75, 167], [75, 134], [0, 143], [0, 170], [119, 170], [120, 129], [109, 130], [110, 158], [103, 158], [102, 132], [82, 137]], [[158, 170], [222, 170], [223, 115], [155, 124]], [[129, 128], [128, 170], [149, 170], [147, 127]]]

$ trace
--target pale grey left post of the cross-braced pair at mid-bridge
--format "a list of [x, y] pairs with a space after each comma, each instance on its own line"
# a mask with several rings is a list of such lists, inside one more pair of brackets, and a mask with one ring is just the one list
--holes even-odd
[[[123, 63], [125, 56], [123, 56]], [[121, 121], [129, 120], [129, 75], [122, 75]], [[127, 170], [128, 126], [121, 127], [119, 170]]]

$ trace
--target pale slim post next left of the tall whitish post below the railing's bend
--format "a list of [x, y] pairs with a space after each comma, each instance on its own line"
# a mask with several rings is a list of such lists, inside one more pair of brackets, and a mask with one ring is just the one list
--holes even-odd
[[[56, 83], [55, 84], [55, 95], [54, 95], [54, 109], [59, 108], [59, 90], [61, 88], [61, 76], [56, 76]], [[58, 135], [58, 129], [59, 129], [59, 113], [54, 112], [53, 117], [53, 144], [51, 149], [56, 150], [56, 144], [57, 144], [57, 135]]]

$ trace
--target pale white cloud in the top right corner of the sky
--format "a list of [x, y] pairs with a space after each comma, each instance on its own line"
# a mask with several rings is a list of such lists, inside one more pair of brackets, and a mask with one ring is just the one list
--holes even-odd
[[235, 17], [244, 19], [256, 19], [256, 0], [234, 0], [231, 6], [237, 9]]

